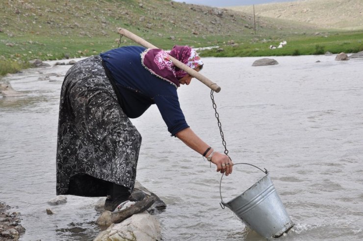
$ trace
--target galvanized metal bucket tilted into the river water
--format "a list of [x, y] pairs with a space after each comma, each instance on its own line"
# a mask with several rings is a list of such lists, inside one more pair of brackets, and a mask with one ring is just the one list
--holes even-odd
[[[235, 163], [251, 165], [266, 175], [262, 177], [252, 187], [248, 188], [242, 194], [234, 197], [229, 202], [224, 202], [221, 192], [221, 182], [219, 184], [219, 193], [221, 195], [221, 207], [228, 207], [251, 229], [259, 235], [270, 239], [279, 238], [287, 233], [294, 223], [290, 220], [284, 204], [277, 193], [268, 171], [249, 163]], [[222, 206], [223, 205], [223, 206]]]

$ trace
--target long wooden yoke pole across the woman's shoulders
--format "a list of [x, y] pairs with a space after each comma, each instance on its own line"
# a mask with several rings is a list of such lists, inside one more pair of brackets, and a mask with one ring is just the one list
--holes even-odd
[[[156, 46], [152, 45], [151, 43], [149, 43], [145, 39], [137, 36], [136, 34], [133, 34], [132, 32], [126, 30], [125, 28], [119, 27], [117, 32], [120, 33], [121, 35], [123, 35], [123, 36], [131, 39], [135, 43], [140, 44], [141, 46], [143, 46], [145, 48], [148, 48], [148, 49], [158, 49]], [[216, 83], [213, 83], [207, 77], [201, 75], [199, 72], [193, 70], [192, 68], [190, 68], [189, 66], [185, 65], [184, 63], [182, 63], [178, 59], [174, 58], [173, 56], [170, 56], [169, 55], [169, 57], [170, 57], [170, 60], [173, 62], [173, 64], [175, 66], [177, 66], [179, 69], [185, 71], [186, 73], [188, 73], [190, 76], [196, 78], [197, 80], [200, 80], [202, 83], [204, 83], [205, 85], [207, 85], [213, 91], [215, 91], [217, 93], [219, 91], [221, 91], [221, 87], [219, 87]]]

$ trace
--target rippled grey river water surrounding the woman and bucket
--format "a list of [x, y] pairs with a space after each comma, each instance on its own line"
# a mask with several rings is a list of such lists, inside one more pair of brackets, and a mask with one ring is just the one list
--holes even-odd
[[[266, 168], [295, 227], [282, 241], [363, 240], [363, 59], [335, 56], [204, 58], [233, 162]], [[320, 62], [316, 62], [320, 60]], [[50, 62], [53, 64], [54, 62]], [[92, 240], [99, 198], [55, 197], [60, 87], [70, 65], [25, 70], [4, 78], [21, 97], [0, 98], [0, 201], [21, 212], [21, 240]], [[198, 80], [178, 90], [195, 133], [224, 151], [209, 89]], [[170, 137], [156, 107], [132, 120], [143, 136], [137, 180], [167, 204], [156, 218], [163, 240], [263, 240], [228, 208], [221, 174]], [[222, 179], [228, 201], [263, 176], [236, 165]], [[55, 214], [48, 215], [51, 208]]]

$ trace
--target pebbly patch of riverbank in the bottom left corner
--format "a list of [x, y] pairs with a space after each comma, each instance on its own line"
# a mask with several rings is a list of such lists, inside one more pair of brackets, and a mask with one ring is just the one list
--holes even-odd
[[20, 224], [20, 213], [10, 213], [11, 207], [0, 203], [0, 241], [19, 240], [19, 236], [25, 232]]

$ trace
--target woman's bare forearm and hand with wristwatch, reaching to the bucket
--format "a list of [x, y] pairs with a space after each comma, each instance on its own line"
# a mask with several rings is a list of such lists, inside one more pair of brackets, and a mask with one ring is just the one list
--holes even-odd
[[[198, 137], [190, 128], [186, 128], [177, 134], [175, 134], [182, 142], [184, 142], [187, 146], [189, 146], [194, 151], [198, 152], [199, 154], [203, 155], [204, 152], [208, 149], [208, 145], [204, 142], [201, 138]], [[213, 148], [211, 148], [206, 157], [208, 157], [213, 152]], [[233, 162], [231, 159], [219, 152], [215, 152], [211, 162], [213, 162], [217, 166], [217, 172], [220, 171], [221, 173], [226, 173], [226, 176], [232, 173], [233, 169]]]

